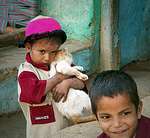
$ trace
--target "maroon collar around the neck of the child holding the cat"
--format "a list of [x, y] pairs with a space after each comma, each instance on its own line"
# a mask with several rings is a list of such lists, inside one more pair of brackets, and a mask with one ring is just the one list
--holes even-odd
[[26, 54], [26, 61], [27, 61], [28, 63], [32, 64], [33, 66], [39, 68], [39, 69], [42, 69], [42, 70], [45, 70], [45, 71], [48, 71], [48, 70], [49, 70], [49, 67], [48, 67], [47, 65], [45, 65], [45, 64], [42, 64], [42, 63], [39, 63], [39, 64], [34, 63], [34, 62], [32, 61], [32, 59], [31, 59], [30, 53], [27, 53], [27, 54]]

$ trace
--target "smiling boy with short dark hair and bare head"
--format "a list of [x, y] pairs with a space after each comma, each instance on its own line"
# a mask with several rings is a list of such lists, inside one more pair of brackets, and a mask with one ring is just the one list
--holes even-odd
[[90, 98], [103, 130], [97, 138], [150, 138], [150, 119], [141, 116], [142, 103], [131, 76], [114, 70], [98, 74]]

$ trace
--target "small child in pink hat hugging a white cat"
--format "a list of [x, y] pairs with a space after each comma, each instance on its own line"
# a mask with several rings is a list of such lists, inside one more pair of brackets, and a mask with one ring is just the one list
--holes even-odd
[[[53, 105], [67, 98], [69, 88], [82, 89], [84, 83], [57, 73], [49, 78], [49, 67], [66, 33], [53, 18], [38, 16], [25, 28], [26, 61], [18, 71], [18, 101], [27, 121], [27, 138], [52, 138], [68, 125]], [[51, 100], [50, 100], [51, 99]]]

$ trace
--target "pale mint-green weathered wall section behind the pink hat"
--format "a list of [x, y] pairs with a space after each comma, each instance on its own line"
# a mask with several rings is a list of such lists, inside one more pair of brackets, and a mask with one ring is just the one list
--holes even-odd
[[58, 19], [69, 39], [79, 41], [93, 33], [93, 0], [42, 0], [42, 14]]

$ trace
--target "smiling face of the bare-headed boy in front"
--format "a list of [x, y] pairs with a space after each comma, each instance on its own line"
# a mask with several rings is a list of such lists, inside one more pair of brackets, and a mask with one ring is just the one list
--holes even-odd
[[138, 111], [128, 95], [103, 96], [97, 101], [97, 118], [101, 129], [110, 138], [134, 138], [141, 105]]

